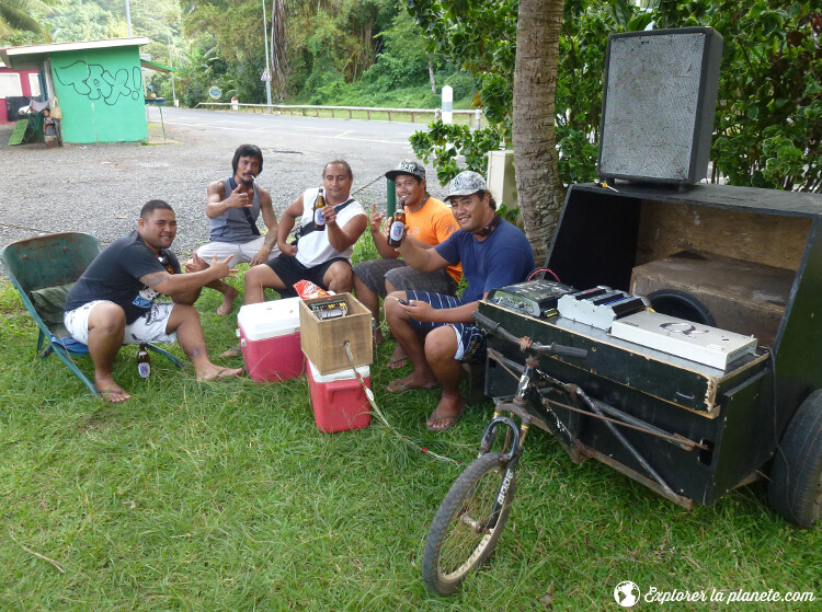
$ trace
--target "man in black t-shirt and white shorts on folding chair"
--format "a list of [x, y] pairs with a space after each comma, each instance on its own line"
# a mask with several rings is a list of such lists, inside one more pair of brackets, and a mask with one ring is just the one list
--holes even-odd
[[[109, 402], [130, 397], [114, 382], [112, 363], [124, 344], [180, 340], [197, 380], [235, 377], [241, 369], [219, 368], [208, 359], [199, 313], [192, 305], [201, 289], [233, 276], [228, 262], [206, 265], [196, 255], [181, 275], [169, 251], [176, 217], [162, 200], [147, 203], [137, 230], [115, 241], [91, 263], [66, 298], [64, 321], [71, 336], [89, 346], [94, 385]], [[172, 302], [156, 302], [159, 295]]]

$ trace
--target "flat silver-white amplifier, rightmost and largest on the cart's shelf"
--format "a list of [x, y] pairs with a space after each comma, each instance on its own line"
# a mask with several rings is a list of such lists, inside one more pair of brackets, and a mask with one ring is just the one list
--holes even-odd
[[610, 335], [720, 370], [756, 350], [756, 338], [753, 336], [726, 332], [653, 311], [638, 312], [615, 321]]

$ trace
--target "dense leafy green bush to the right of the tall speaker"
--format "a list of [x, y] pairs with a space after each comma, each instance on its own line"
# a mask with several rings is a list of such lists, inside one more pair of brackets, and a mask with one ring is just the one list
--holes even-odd
[[812, 8], [786, 0], [756, 0], [747, 10], [732, 0], [660, 2], [660, 27], [711, 25], [724, 36], [715, 181], [822, 190], [822, 48]]

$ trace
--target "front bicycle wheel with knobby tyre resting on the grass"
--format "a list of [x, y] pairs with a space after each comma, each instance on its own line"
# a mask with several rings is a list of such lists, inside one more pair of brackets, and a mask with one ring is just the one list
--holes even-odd
[[516, 474], [512, 473], [496, 524], [482, 529], [493, 512], [504, 477], [502, 453], [489, 452], [452, 485], [431, 523], [422, 556], [422, 577], [432, 591], [452, 594], [491, 554], [514, 500]]

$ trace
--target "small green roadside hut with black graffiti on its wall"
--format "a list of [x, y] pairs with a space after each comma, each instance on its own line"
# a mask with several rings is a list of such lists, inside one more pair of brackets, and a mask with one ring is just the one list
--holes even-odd
[[[60, 107], [65, 142], [129, 142], [148, 138], [139, 48], [148, 37], [0, 48], [12, 70], [42, 74], [43, 94]], [[162, 67], [164, 68], [164, 67]]]

